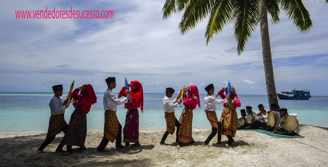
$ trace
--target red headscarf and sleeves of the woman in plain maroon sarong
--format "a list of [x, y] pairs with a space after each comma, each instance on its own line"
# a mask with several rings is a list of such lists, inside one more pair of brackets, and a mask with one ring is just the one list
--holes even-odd
[[[143, 89], [142, 85], [138, 81], [131, 81], [131, 83], [134, 85], [134, 90], [130, 92], [131, 98], [135, 100], [134, 105], [139, 106], [140, 105], [140, 110], [143, 113]], [[122, 96], [126, 97], [126, 88], [125, 86], [122, 88], [120, 93]], [[129, 104], [128, 104], [129, 105]]]

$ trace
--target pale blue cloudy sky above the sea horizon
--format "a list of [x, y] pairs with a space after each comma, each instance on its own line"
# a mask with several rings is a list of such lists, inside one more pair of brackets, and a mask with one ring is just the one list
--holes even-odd
[[[233, 25], [214, 35], [206, 46], [207, 19], [185, 36], [178, 32], [181, 14], [162, 19], [164, 0], [17, 1], [0, 2], [0, 92], [52, 92], [63, 84], [68, 92], [92, 84], [107, 89], [105, 79], [116, 77], [119, 92], [138, 80], [144, 93], [196, 85], [215, 90], [228, 81], [237, 94], [267, 94], [259, 28], [238, 56]], [[311, 90], [328, 93], [328, 8], [303, 0], [312, 29], [301, 34], [281, 11], [280, 23], [269, 20], [277, 93]], [[113, 10], [112, 19], [16, 19], [15, 10]], [[270, 17], [269, 17], [270, 19]]]

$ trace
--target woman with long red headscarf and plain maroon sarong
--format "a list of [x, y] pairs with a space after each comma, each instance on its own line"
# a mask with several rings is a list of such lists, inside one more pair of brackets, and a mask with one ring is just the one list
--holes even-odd
[[[129, 150], [130, 142], [140, 146], [139, 143], [139, 111], [143, 112], [143, 90], [142, 85], [138, 81], [131, 81], [131, 100], [124, 104], [124, 108], [128, 109], [125, 117], [125, 126], [123, 129], [123, 142], [125, 142], [125, 147], [120, 150], [121, 152]], [[120, 91], [118, 98], [121, 96], [126, 97], [126, 88], [123, 87]]]

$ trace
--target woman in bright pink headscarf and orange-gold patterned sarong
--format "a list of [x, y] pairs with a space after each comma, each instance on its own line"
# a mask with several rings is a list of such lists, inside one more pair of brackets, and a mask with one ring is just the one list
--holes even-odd
[[[185, 88], [187, 94], [184, 95], [183, 105], [185, 108], [182, 111], [182, 114], [179, 119], [180, 128], [179, 128], [179, 143], [176, 146], [177, 149], [181, 148], [182, 143], [191, 143], [194, 142], [192, 136], [193, 131], [193, 110], [198, 107], [200, 108], [198, 88], [195, 85], [191, 85]], [[182, 91], [182, 90], [181, 90]]]

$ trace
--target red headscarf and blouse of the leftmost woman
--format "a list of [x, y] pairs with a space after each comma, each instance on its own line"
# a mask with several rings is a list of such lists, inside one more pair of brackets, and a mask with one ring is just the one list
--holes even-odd
[[90, 111], [91, 105], [97, 103], [97, 96], [93, 91], [92, 85], [83, 85], [85, 88], [82, 90], [81, 97], [79, 95], [79, 90], [75, 89], [71, 97], [76, 101], [73, 103], [74, 108], [82, 110], [87, 114]]

